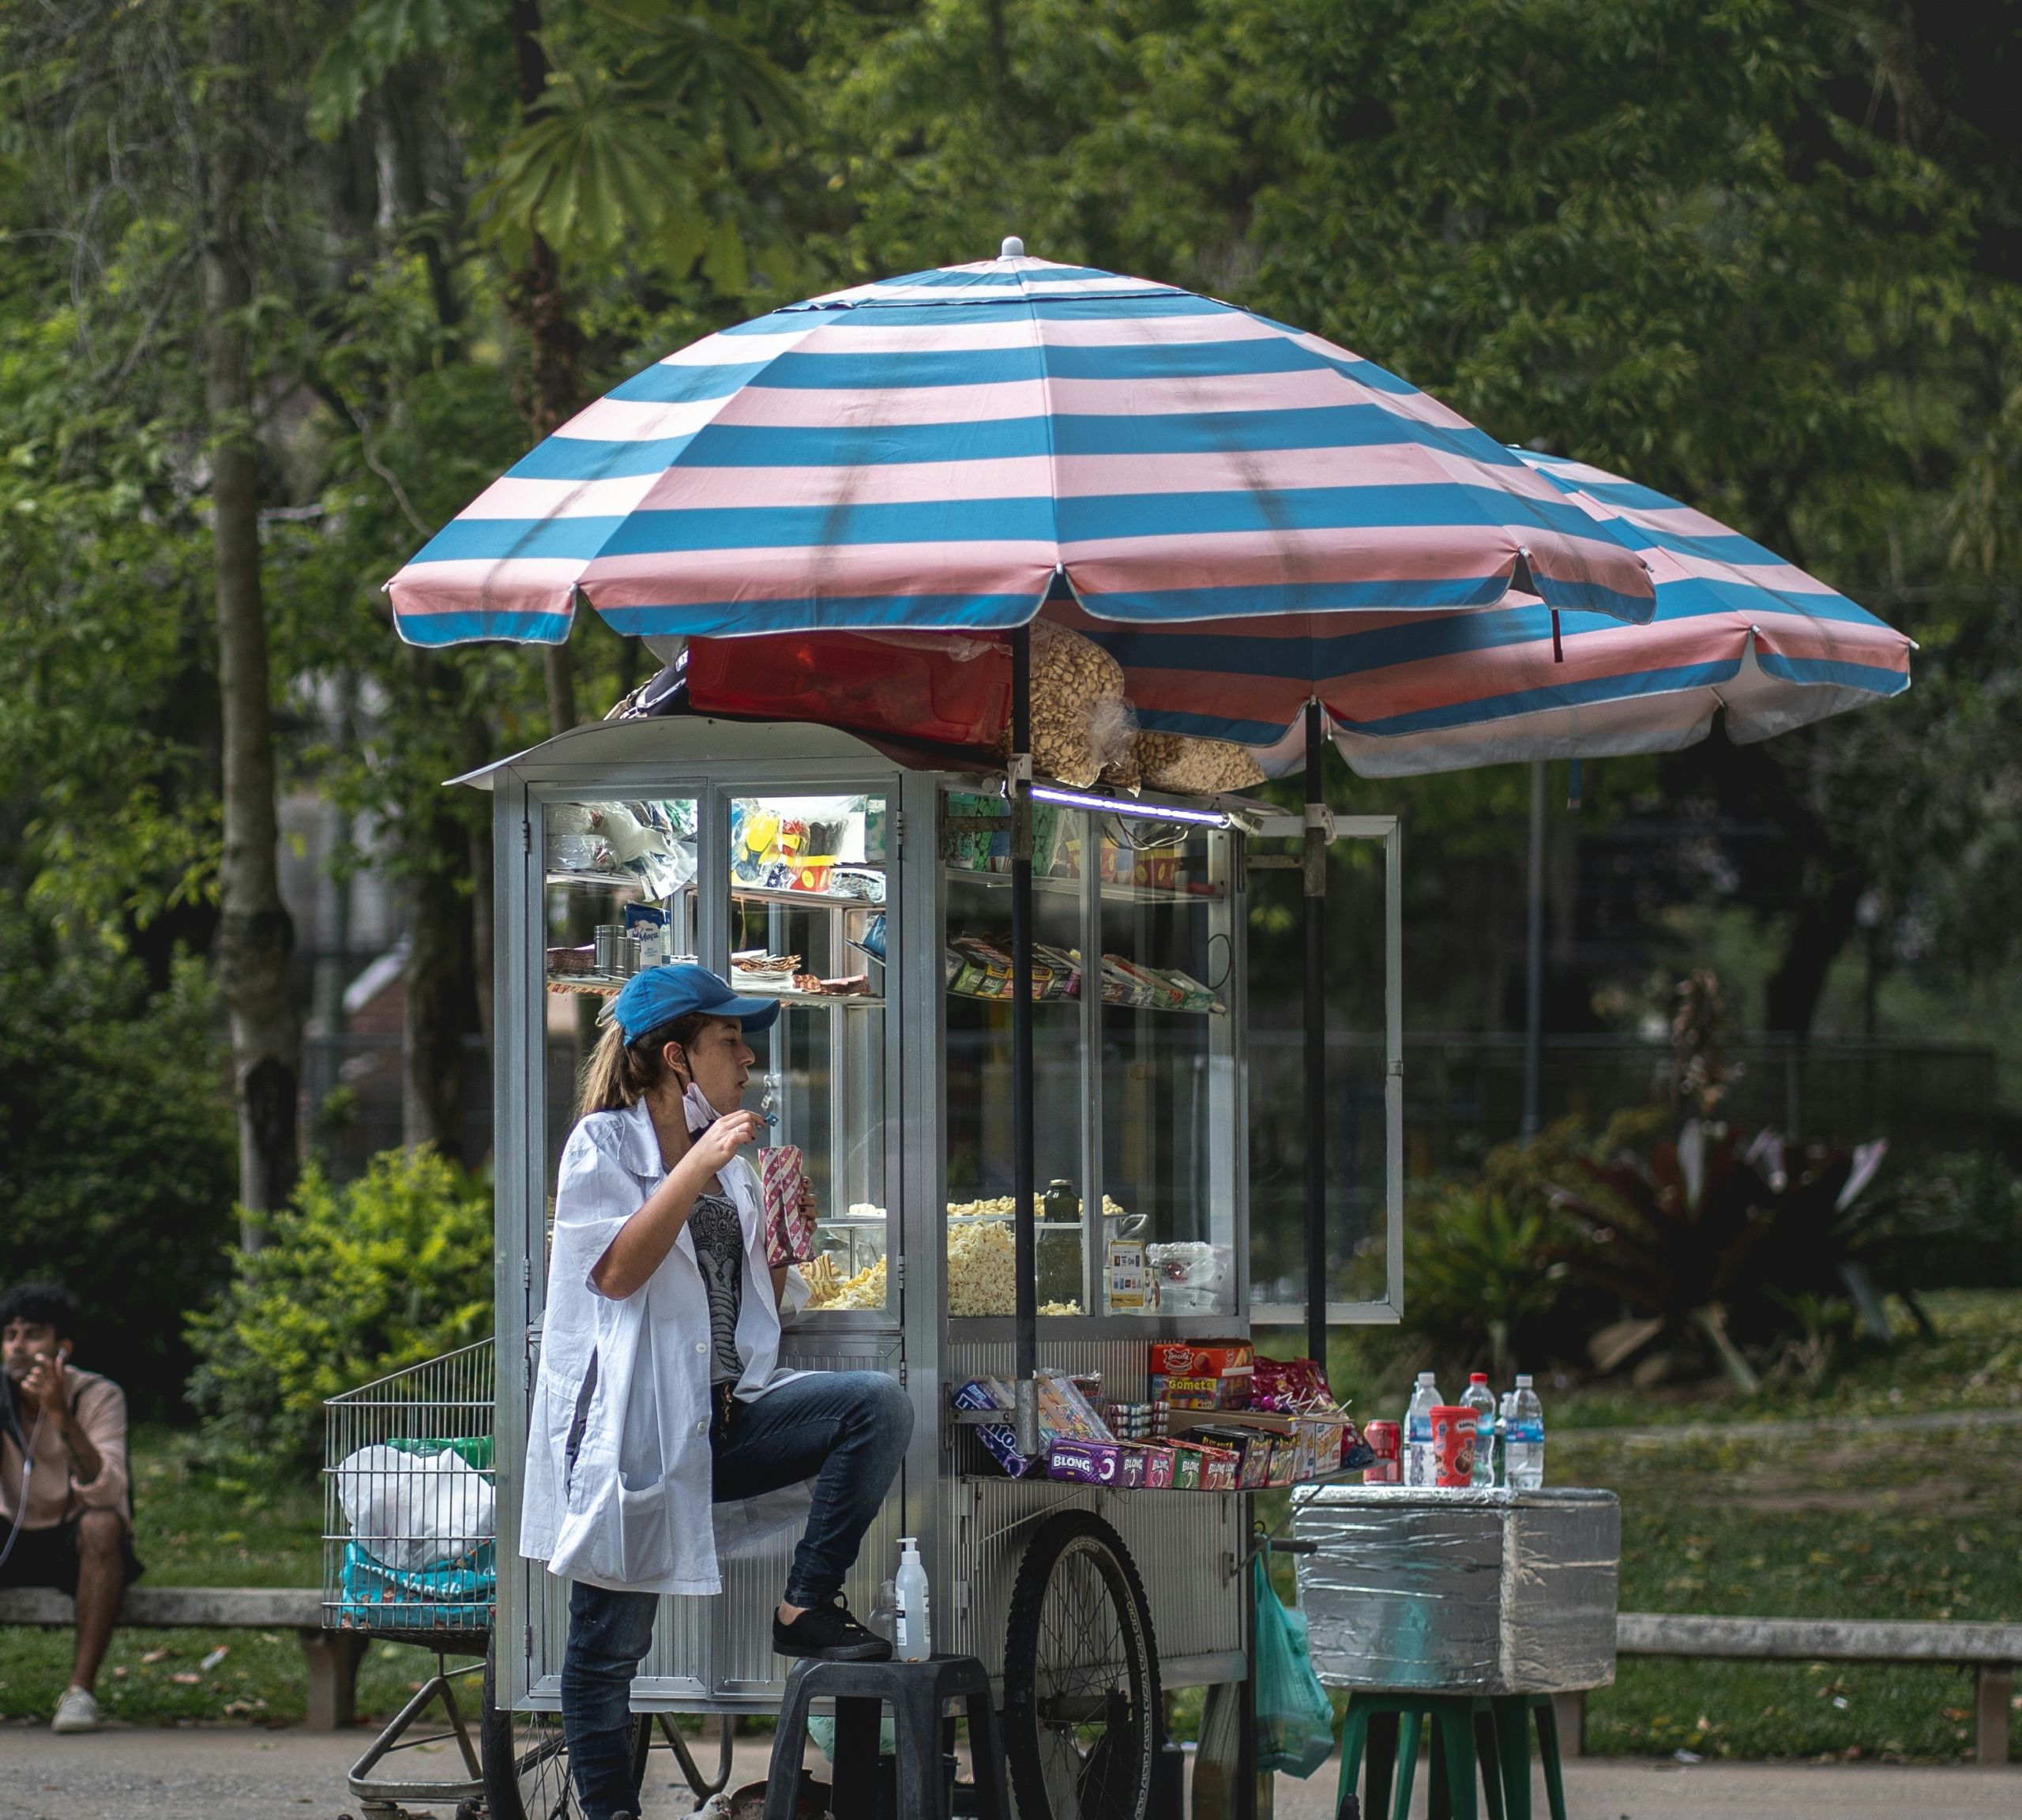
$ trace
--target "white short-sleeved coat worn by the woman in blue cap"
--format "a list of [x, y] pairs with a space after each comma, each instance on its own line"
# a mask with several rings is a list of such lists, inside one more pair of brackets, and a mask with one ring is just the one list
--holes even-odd
[[[685, 1225], [633, 1294], [613, 1300], [590, 1284], [596, 1260], [663, 1175], [645, 1102], [592, 1112], [568, 1134], [554, 1191], [520, 1553], [562, 1579], [619, 1591], [714, 1594], [722, 1589], [718, 1555], [799, 1523], [807, 1488], [710, 1503], [710, 1296]], [[780, 1316], [793, 1318], [807, 1302], [807, 1284], [789, 1270], [774, 1308], [758, 1171], [734, 1157], [718, 1179], [744, 1223], [736, 1395], [752, 1401], [803, 1375], [778, 1369], [778, 1337]], [[592, 1357], [596, 1383], [584, 1395]], [[582, 1434], [570, 1466], [578, 1405]]]

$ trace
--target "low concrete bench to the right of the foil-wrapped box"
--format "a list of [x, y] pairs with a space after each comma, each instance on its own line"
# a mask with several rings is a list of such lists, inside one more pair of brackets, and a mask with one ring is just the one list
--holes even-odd
[[[1947, 1662], [1978, 1678], [1973, 1759], [2008, 1761], [2008, 1699], [2022, 1662], [2022, 1624], [1895, 1624], [1852, 1618], [1696, 1618], [1620, 1612], [1618, 1656], [1727, 1662]], [[1581, 1745], [1585, 1695], [1557, 1695], [1559, 1743]]]

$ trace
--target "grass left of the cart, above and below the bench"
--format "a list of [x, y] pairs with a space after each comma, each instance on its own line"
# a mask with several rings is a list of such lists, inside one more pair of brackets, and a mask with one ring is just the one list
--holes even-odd
[[[220, 1486], [166, 1428], [133, 1434], [131, 1464], [142, 1585], [321, 1583], [319, 1486]], [[419, 1648], [374, 1644], [358, 1670], [360, 1713], [390, 1719], [429, 1668]], [[47, 1721], [69, 1678], [69, 1630], [0, 1628], [0, 1719]], [[137, 1725], [299, 1723], [305, 1701], [291, 1630], [117, 1630], [99, 1670], [99, 1705]]]

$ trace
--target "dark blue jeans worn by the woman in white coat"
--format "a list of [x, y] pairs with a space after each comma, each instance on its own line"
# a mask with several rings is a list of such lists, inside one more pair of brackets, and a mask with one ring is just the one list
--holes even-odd
[[[710, 1496], [724, 1505], [815, 1480], [807, 1531], [787, 1575], [789, 1606], [825, 1606], [843, 1589], [912, 1440], [912, 1403], [882, 1371], [811, 1371], [736, 1403], [710, 1434]], [[631, 1682], [653, 1646], [657, 1594], [568, 1587], [562, 1733], [584, 1820], [639, 1812], [633, 1780]]]

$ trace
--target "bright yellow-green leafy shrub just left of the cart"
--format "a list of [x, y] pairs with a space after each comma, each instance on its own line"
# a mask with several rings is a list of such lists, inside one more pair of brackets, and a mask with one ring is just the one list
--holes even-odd
[[334, 1187], [311, 1163], [259, 1252], [190, 1316], [204, 1452], [313, 1470], [324, 1397], [491, 1333], [491, 1193], [435, 1151], [382, 1151]]

